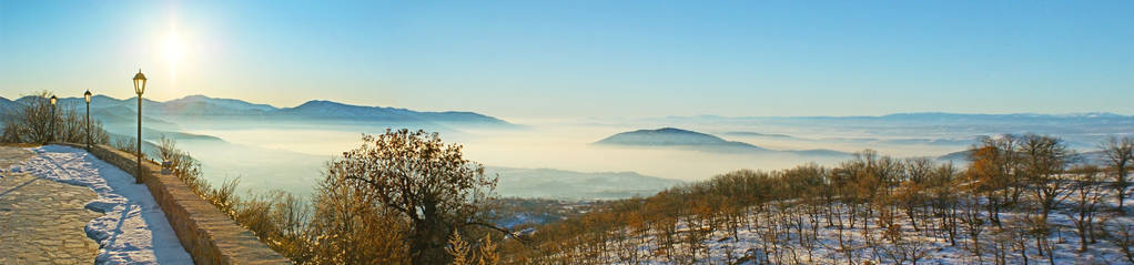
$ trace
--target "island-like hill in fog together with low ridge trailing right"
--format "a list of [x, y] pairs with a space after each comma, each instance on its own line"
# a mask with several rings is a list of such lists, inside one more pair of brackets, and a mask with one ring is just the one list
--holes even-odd
[[711, 153], [790, 153], [804, 156], [849, 155], [848, 153], [832, 149], [773, 151], [748, 143], [726, 140], [713, 135], [677, 128], [661, 128], [655, 130], [643, 129], [620, 132], [595, 142], [594, 144], [608, 146], [676, 147]]

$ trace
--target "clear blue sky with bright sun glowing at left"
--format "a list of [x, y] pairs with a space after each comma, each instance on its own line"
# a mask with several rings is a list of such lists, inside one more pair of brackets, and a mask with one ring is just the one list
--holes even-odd
[[0, 1], [0, 96], [1134, 114], [1134, 1]]

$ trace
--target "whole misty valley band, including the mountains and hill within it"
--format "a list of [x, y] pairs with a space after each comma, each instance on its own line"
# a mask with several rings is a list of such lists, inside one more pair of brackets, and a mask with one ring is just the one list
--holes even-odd
[[[26, 99], [15, 102], [20, 100]], [[68, 97], [60, 104], [81, 103]], [[135, 134], [136, 108], [129, 99], [95, 96], [91, 112], [115, 138], [124, 138]], [[649, 196], [738, 169], [832, 165], [863, 149], [963, 163], [965, 155], [958, 152], [981, 136], [1001, 134], [1053, 135], [1090, 152], [1106, 136], [1134, 131], [1134, 118], [1109, 113], [611, 117], [521, 125], [475, 112], [329, 101], [277, 108], [201, 95], [145, 101], [143, 109], [143, 138], [178, 140], [202, 162], [206, 180], [220, 183], [239, 177], [246, 190], [301, 195], [313, 190], [327, 161], [358, 147], [363, 134], [387, 128], [435, 131], [459, 143], [466, 157], [500, 177], [501, 196], [565, 199]]]

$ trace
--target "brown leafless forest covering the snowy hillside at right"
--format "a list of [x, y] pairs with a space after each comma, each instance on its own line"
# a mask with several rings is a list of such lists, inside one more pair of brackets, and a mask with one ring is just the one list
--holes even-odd
[[1134, 263], [1134, 140], [984, 137], [970, 163], [873, 151], [603, 204], [503, 245], [507, 264]]

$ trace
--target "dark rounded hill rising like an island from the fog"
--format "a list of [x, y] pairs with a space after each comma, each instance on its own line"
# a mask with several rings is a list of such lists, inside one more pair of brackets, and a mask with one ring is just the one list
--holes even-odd
[[721, 139], [720, 137], [701, 134], [692, 130], [677, 128], [661, 128], [655, 130], [635, 130], [620, 132], [602, 140], [595, 142], [598, 145], [627, 145], [627, 146], [675, 146], [675, 147], [700, 147], [731, 151], [768, 151], [765, 148]]

